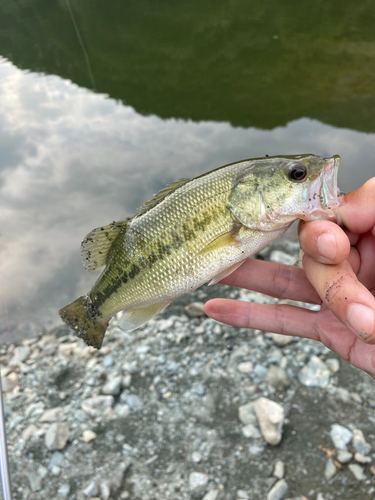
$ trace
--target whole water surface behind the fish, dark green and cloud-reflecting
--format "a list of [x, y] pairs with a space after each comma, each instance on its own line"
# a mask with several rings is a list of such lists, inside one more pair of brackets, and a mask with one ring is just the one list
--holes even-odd
[[344, 191], [373, 176], [374, 21], [365, 1], [3, 1], [2, 338], [60, 324], [98, 275], [82, 238], [168, 182], [266, 153], [340, 154]]

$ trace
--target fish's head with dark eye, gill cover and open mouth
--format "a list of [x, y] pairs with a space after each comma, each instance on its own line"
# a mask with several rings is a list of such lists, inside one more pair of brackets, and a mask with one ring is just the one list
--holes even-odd
[[246, 227], [272, 231], [296, 219], [336, 219], [341, 205], [337, 172], [340, 157], [316, 155], [259, 159], [238, 180], [229, 204]]

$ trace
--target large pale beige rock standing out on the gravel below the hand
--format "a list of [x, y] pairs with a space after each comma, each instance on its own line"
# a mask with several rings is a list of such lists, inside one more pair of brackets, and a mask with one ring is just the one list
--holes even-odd
[[259, 398], [255, 401], [255, 412], [265, 441], [273, 446], [279, 444], [284, 423], [283, 407], [270, 399]]

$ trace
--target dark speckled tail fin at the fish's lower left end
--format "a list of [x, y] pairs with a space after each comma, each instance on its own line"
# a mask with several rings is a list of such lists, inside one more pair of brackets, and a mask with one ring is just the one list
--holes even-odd
[[79, 297], [71, 304], [60, 309], [61, 319], [72, 328], [78, 337], [86, 344], [100, 349], [107, 328], [107, 322], [101, 321], [100, 316], [90, 314], [88, 297]]

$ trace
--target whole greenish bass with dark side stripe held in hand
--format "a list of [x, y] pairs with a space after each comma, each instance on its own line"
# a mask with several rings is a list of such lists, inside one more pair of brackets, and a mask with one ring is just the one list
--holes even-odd
[[118, 312], [119, 328], [135, 330], [173, 299], [221, 281], [296, 219], [335, 220], [339, 164], [338, 155], [266, 156], [168, 184], [132, 217], [84, 238], [86, 270], [105, 269], [60, 317], [97, 349]]

